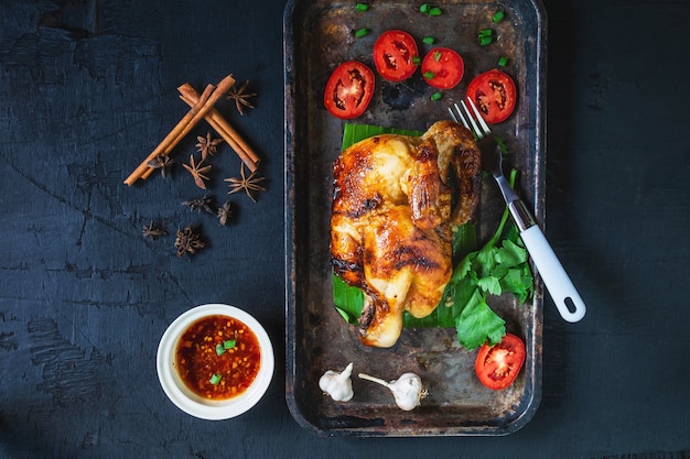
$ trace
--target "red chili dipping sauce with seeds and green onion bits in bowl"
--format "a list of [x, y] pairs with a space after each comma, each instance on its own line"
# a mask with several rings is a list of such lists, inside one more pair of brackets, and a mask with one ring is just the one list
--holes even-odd
[[209, 400], [244, 393], [261, 367], [259, 340], [240, 320], [209, 316], [197, 320], [180, 338], [175, 352], [185, 385]]

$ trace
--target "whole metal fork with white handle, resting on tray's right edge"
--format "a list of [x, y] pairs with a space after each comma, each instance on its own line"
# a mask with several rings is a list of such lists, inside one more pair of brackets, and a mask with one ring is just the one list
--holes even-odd
[[510, 215], [520, 231], [520, 238], [561, 317], [570, 323], [581, 320], [586, 312], [584, 302], [553, 252], [549, 241], [547, 241], [543, 232], [527, 209], [527, 206], [525, 206], [504, 176], [503, 154], [496, 138], [494, 138], [490, 129], [479, 114], [474, 101], [472, 99], [467, 99], [467, 101], [472, 107], [472, 111], [470, 111], [465, 101], [462, 100], [460, 102], [463, 107], [462, 110], [457, 103], [453, 105], [455, 110], [449, 108], [451, 118], [455, 122], [462, 122], [477, 139], [477, 146], [482, 152], [482, 167], [492, 174], [498, 183]]

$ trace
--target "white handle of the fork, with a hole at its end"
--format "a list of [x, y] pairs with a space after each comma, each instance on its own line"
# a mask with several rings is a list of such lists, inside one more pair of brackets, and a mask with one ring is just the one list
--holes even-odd
[[[586, 312], [584, 302], [568, 276], [563, 265], [558, 260], [558, 256], [553, 253], [553, 249], [551, 249], [541, 229], [535, 225], [522, 231], [520, 237], [551, 298], [553, 298], [556, 307], [558, 307], [559, 313], [561, 313], [561, 317], [570, 323], [581, 320]], [[572, 302], [571, 306], [574, 308], [573, 310], [569, 307], [567, 303], [568, 299]]]

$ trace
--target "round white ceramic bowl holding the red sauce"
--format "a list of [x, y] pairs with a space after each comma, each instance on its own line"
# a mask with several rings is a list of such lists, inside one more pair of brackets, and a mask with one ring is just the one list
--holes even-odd
[[[261, 348], [261, 365], [251, 385], [242, 394], [228, 400], [206, 400], [184, 384], [175, 368], [177, 341], [195, 321], [208, 316], [229, 316], [244, 323], [256, 335]], [[273, 347], [268, 334], [251, 315], [229, 305], [208, 304], [194, 307], [168, 327], [158, 347], [158, 378], [168, 397], [183, 412], [202, 419], [228, 419], [249, 411], [263, 396], [273, 376]]]

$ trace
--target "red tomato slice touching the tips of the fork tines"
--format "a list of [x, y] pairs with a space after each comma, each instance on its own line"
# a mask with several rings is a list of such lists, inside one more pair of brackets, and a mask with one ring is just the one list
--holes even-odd
[[513, 113], [517, 90], [507, 74], [493, 69], [477, 75], [467, 86], [467, 97], [487, 123], [498, 123]]

